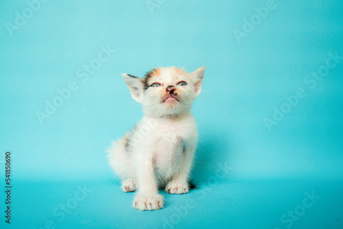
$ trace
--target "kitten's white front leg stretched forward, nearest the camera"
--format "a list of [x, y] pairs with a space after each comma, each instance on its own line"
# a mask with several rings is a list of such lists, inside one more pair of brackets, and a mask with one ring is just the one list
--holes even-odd
[[139, 210], [157, 210], [163, 208], [163, 196], [158, 194], [152, 155], [143, 155], [138, 160], [139, 189], [134, 198], [133, 207]]

